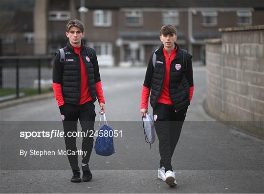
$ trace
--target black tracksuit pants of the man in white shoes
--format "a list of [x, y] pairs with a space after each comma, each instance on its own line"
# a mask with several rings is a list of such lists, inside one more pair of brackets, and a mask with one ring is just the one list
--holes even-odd
[[173, 105], [157, 103], [153, 109], [155, 131], [159, 140], [160, 168], [172, 171], [172, 156], [179, 140], [188, 107], [175, 112]]

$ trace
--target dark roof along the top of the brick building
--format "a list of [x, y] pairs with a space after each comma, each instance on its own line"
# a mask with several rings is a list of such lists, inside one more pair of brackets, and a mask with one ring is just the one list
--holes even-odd
[[[75, 0], [80, 7], [80, 0]], [[89, 9], [253, 7], [264, 9], [263, 0], [85, 0]]]

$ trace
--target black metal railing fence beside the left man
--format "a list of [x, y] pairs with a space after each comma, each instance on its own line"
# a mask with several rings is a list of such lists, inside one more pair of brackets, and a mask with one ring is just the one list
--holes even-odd
[[[51, 80], [54, 56], [8, 56], [0, 57], [0, 89], [37, 88], [42, 93], [44, 80]], [[43, 79], [44, 78], [44, 79]]]

